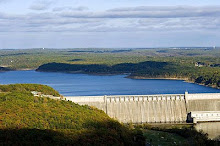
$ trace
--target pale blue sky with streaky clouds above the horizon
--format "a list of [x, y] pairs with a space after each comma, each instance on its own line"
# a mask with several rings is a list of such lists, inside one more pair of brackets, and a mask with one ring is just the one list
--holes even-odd
[[220, 46], [219, 0], [0, 0], [0, 48]]

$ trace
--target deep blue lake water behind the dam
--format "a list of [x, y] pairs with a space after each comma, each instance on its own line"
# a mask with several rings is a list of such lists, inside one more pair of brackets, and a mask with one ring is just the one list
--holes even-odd
[[181, 80], [137, 80], [125, 77], [125, 75], [97, 76], [11, 71], [0, 73], [0, 84], [45, 84], [53, 87], [64, 96], [183, 94], [185, 91], [189, 93], [220, 93], [219, 89], [187, 83]]

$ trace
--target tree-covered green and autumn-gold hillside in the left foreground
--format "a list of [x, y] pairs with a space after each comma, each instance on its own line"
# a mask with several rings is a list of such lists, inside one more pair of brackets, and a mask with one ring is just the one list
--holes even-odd
[[[0, 86], [0, 145], [135, 145], [134, 134], [103, 111], [34, 97], [58, 95], [48, 86]], [[135, 138], [137, 140], [137, 138]]]

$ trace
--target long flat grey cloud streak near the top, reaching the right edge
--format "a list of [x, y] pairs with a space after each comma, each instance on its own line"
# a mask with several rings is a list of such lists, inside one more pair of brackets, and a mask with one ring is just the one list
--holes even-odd
[[72, 18], [177, 18], [177, 17], [219, 17], [220, 6], [210, 7], [133, 7], [116, 8], [104, 12], [63, 12]]

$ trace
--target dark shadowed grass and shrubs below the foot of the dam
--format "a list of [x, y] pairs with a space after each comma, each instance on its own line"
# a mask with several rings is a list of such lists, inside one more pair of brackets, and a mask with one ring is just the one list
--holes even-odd
[[219, 146], [220, 139], [211, 140], [208, 134], [197, 131], [189, 124], [143, 124], [136, 129], [143, 130], [146, 142], [151, 145]]

